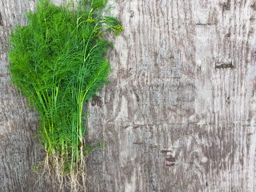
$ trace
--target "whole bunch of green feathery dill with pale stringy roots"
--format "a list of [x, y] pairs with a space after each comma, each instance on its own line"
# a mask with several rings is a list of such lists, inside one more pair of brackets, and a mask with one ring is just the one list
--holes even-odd
[[27, 13], [28, 25], [10, 34], [11, 82], [39, 113], [37, 136], [46, 151], [34, 171], [47, 173], [60, 189], [67, 178], [72, 191], [85, 190], [85, 161], [103, 145], [85, 144], [83, 107], [108, 83], [112, 44], [104, 36], [123, 31], [107, 1], [82, 0], [75, 9], [72, 2], [39, 0]]

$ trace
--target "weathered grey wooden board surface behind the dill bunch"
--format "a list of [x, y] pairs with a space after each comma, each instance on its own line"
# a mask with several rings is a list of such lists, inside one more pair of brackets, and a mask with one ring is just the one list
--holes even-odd
[[[256, 191], [256, 1], [117, 3], [111, 83], [88, 106], [87, 142], [108, 145], [87, 160], [87, 191]], [[36, 113], [9, 83], [6, 40], [35, 2], [0, 5], [0, 191], [32, 192], [44, 154]]]

